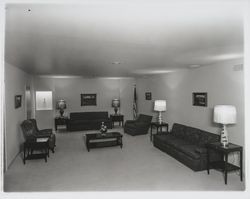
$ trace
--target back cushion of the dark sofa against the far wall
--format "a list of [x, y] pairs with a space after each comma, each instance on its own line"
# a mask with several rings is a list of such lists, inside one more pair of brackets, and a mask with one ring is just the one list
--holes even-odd
[[108, 119], [108, 112], [74, 112], [70, 113], [71, 120], [100, 120]]

